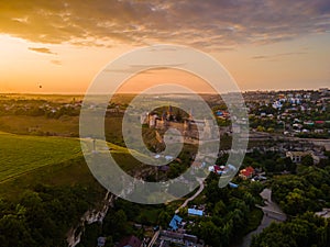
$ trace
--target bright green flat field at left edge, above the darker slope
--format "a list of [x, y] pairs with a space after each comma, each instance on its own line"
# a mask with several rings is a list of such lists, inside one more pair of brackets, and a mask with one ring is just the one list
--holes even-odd
[[0, 132], [0, 182], [81, 156], [78, 139]]

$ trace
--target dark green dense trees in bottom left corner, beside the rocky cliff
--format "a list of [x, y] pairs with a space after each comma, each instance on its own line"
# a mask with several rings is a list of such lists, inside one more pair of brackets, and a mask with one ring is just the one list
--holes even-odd
[[36, 186], [15, 202], [0, 200], [1, 247], [65, 246], [66, 233], [90, 206], [90, 188]]

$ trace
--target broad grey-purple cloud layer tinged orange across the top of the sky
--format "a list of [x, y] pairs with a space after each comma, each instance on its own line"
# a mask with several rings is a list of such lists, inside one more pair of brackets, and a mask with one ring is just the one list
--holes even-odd
[[328, 0], [2, 0], [0, 33], [75, 45], [179, 43], [228, 49], [329, 32]]

